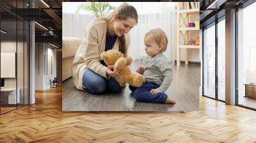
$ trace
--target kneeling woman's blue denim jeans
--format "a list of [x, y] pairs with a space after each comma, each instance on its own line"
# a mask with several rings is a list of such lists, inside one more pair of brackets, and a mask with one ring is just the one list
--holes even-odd
[[89, 93], [100, 94], [107, 90], [113, 93], [118, 93], [121, 91], [122, 86], [116, 82], [115, 78], [111, 77], [111, 79], [105, 79], [104, 77], [87, 68], [83, 75], [83, 88]]

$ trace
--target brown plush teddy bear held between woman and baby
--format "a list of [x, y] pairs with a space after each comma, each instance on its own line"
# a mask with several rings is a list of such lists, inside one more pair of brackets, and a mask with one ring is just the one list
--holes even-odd
[[116, 81], [120, 86], [129, 84], [134, 87], [140, 87], [145, 83], [145, 77], [143, 75], [134, 75], [131, 73], [129, 64], [132, 63], [131, 57], [124, 57], [124, 54], [118, 50], [107, 50], [100, 54], [100, 57], [104, 60], [106, 65], [114, 65], [114, 70], [119, 70], [119, 76], [116, 77]]

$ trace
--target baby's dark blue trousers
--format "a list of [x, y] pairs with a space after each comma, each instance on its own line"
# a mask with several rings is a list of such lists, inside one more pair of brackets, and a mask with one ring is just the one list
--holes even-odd
[[129, 86], [129, 89], [132, 91], [132, 96], [138, 102], [152, 102], [152, 103], [165, 103], [167, 95], [165, 93], [150, 93], [151, 89], [156, 89], [159, 85], [154, 84], [153, 82], [146, 82], [141, 87]]

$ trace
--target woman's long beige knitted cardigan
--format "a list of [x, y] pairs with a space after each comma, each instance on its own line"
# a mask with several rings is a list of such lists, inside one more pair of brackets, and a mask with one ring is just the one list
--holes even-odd
[[[107, 21], [103, 19], [92, 20], [86, 28], [81, 44], [77, 49], [76, 56], [72, 64], [72, 78], [74, 86], [83, 90], [83, 75], [86, 68], [90, 68], [95, 73], [109, 79], [106, 74], [107, 67], [100, 63], [100, 54], [104, 52], [106, 45]], [[124, 34], [125, 44], [129, 47], [129, 34]], [[119, 49], [118, 38], [113, 49]]]

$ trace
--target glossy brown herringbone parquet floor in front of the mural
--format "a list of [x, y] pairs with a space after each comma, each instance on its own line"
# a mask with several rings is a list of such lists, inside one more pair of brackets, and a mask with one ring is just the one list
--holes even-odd
[[0, 142], [256, 142], [256, 112], [200, 97], [200, 110], [62, 112], [61, 87], [0, 116]]

